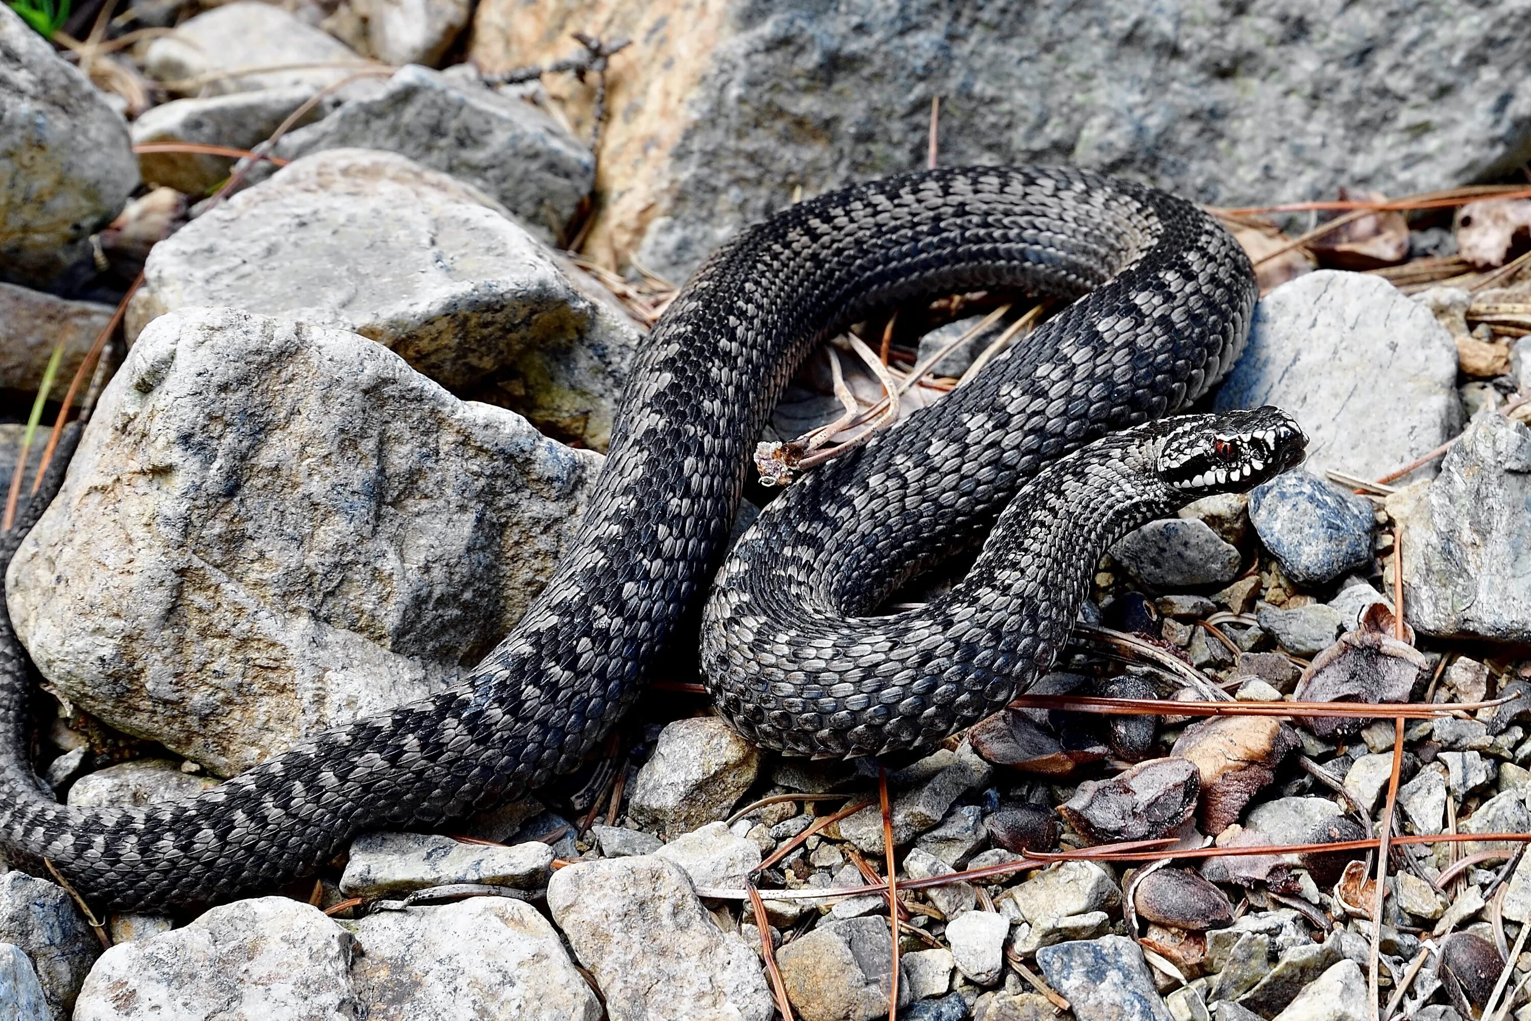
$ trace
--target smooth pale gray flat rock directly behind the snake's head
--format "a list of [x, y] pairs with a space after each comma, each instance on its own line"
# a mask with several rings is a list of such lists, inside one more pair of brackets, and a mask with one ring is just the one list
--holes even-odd
[[1461, 429], [1456, 341], [1379, 277], [1311, 272], [1255, 306], [1249, 344], [1216, 401], [1262, 404], [1301, 422], [1311, 471], [1375, 479]]

